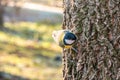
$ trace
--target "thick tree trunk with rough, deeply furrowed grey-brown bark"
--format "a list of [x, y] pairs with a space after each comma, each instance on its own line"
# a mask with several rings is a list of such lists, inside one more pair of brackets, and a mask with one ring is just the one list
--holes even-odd
[[120, 0], [64, 0], [63, 29], [78, 50], [63, 51], [64, 80], [120, 80]]

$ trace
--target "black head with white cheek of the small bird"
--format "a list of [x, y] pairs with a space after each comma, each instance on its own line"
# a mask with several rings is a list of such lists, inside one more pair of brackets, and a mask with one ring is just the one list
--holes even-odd
[[72, 45], [75, 43], [76, 39], [77, 37], [75, 36], [75, 34], [73, 34], [72, 32], [66, 31], [63, 41], [65, 45]]

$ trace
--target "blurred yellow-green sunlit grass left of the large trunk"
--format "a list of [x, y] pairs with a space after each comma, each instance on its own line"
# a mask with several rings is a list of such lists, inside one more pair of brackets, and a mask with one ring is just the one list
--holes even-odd
[[[0, 31], [0, 71], [30, 80], [61, 80], [61, 48], [51, 35], [60, 24], [5, 23]], [[34, 75], [33, 75], [34, 74]]]

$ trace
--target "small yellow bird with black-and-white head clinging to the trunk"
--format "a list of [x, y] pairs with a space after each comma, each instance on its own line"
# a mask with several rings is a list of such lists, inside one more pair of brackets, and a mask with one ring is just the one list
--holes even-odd
[[60, 47], [67, 49], [72, 48], [77, 40], [76, 35], [68, 30], [53, 31], [52, 37]]

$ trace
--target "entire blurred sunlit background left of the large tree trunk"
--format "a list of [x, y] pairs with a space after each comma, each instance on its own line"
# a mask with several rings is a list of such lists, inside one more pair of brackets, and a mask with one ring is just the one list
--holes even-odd
[[0, 0], [0, 80], [62, 80], [62, 0]]

